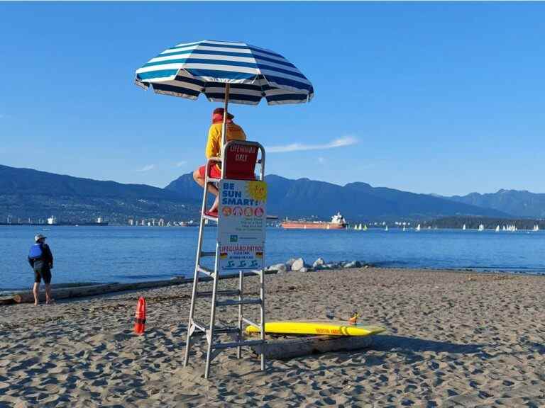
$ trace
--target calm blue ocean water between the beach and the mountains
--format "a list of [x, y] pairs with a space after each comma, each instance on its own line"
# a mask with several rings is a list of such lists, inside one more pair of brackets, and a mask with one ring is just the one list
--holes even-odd
[[[28, 288], [26, 260], [35, 234], [48, 237], [53, 283], [136, 282], [192, 276], [197, 227], [0, 226], [0, 289]], [[215, 227], [205, 228], [204, 249], [214, 249]], [[268, 228], [265, 263], [302, 256], [308, 263], [360, 260], [383, 267], [471, 268], [545, 273], [545, 232]]]

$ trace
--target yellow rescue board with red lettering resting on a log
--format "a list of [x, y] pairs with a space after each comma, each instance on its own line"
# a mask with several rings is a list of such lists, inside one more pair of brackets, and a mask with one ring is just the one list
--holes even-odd
[[[266, 322], [265, 333], [270, 334], [320, 334], [326, 336], [369, 336], [385, 331], [380, 326], [363, 326], [332, 321], [285, 321]], [[255, 334], [260, 330], [255, 326], [246, 327], [246, 333]]]

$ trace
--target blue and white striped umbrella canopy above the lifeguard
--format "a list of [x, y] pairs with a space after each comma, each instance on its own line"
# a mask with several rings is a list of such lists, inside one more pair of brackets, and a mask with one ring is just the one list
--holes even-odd
[[[199, 41], [168, 48], [136, 71], [136, 84], [158, 94], [257, 105], [304, 103], [310, 81], [282, 55], [244, 42]], [[229, 88], [226, 86], [229, 84]], [[227, 91], [227, 92], [226, 92]]]

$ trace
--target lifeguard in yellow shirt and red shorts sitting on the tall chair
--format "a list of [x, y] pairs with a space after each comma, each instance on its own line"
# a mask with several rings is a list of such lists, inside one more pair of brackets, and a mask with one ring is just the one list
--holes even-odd
[[[214, 109], [214, 112], [212, 112], [212, 124], [210, 125], [210, 128], [208, 130], [208, 142], [206, 149], [207, 159], [209, 159], [210, 157], [221, 157], [221, 127], [222, 123], [224, 122], [224, 112], [224, 108], [216, 108]], [[246, 133], [244, 133], [244, 130], [240, 126], [236, 125], [236, 123], [233, 123], [233, 118], [234, 116], [228, 112], [225, 125], [225, 142], [229, 142], [231, 140], [246, 140]], [[199, 186], [203, 188], [204, 175], [206, 174], [206, 171], [207, 166], [204, 165], [200, 166], [199, 169], [193, 172], [194, 181], [196, 181], [197, 184], [199, 184]], [[221, 165], [215, 164], [214, 166], [211, 166], [209, 176], [214, 179], [220, 179]], [[208, 210], [207, 213], [213, 217], [217, 217], [219, 205], [218, 188], [210, 184], [208, 186], [208, 191], [216, 196], [216, 200], [214, 200], [214, 204], [211, 206], [210, 210]]]

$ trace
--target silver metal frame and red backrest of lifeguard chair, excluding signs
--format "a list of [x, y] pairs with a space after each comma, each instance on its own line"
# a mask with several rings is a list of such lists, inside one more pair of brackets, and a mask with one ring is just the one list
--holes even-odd
[[[240, 152], [243, 151], [241, 159]], [[260, 151], [260, 159], [258, 159], [258, 151]], [[221, 157], [223, 159], [214, 157], [210, 158], [207, 162], [206, 173], [204, 178], [204, 193], [202, 197], [202, 210], [201, 220], [199, 225], [199, 242], [197, 244], [197, 259], [195, 261], [195, 270], [193, 278], [193, 290], [191, 295], [191, 306], [189, 309], [189, 323], [187, 324], [187, 340], [185, 346], [185, 358], [184, 367], [189, 362], [189, 352], [191, 351], [193, 336], [197, 334], [205, 335], [207, 339], [207, 363], [204, 370], [204, 378], [209, 378], [210, 375], [210, 363], [211, 361], [224, 349], [236, 348], [237, 358], [241, 358], [241, 352], [243, 346], [255, 346], [261, 345], [261, 370], [265, 370], [265, 277], [263, 266], [260, 269], [247, 270], [246, 273], [241, 270], [238, 271], [238, 289], [237, 290], [218, 290], [218, 280], [220, 275], [220, 242], [219, 234], [216, 239], [215, 251], [203, 251], [203, 235], [204, 225], [207, 222], [221, 223], [222, 215], [218, 216], [210, 215], [206, 211], [207, 198], [209, 197], [208, 186], [211, 183], [218, 183], [222, 180], [255, 180], [255, 165], [260, 165], [259, 180], [263, 181], [265, 175], [265, 149], [258, 142], [246, 142], [241, 140], [231, 140], [231, 142], [224, 145]], [[210, 176], [211, 167], [216, 164], [221, 164], [221, 179], [215, 179]], [[219, 188], [220, 200], [221, 189]], [[221, 206], [220, 206], [221, 209]], [[263, 215], [263, 222], [265, 222], [265, 215]], [[218, 231], [219, 231], [218, 225]], [[264, 242], [263, 242], [264, 244]], [[264, 252], [263, 246], [263, 252]], [[264, 259], [263, 254], [263, 259]], [[205, 256], [214, 256], [214, 269], [207, 268], [202, 265], [202, 258]], [[260, 281], [260, 295], [255, 298], [248, 298], [243, 296], [243, 280], [244, 276], [248, 275], [259, 276]], [[199, 276], [200, 274], [208, 276], [212, 279], [212, 290], [198, 291]], [[203, 322], [198, 322], [194, 319], [195, 307], [197, 307], [197, 299], [199, 297], [211, 297], [211, 309], [209, 324], [206, 325]], [[221, 297], [221, 299], [219, 299]], [[225, 299], [225, 297], [231, 297], [231, 299]], [[260, 307], [260, 322], [259, 324], [252, 322], [243, 316], [243, 305], [259, 305]], [[216, 326], [216, 307], [224, 306], [238, 306], [238, 324], [233, 327], [218, 327]], [[243, 323], [251, 324], [252, 326], [260, 329], [260, 338], [255, 340], [243, 339]], [[220, 342], [216, 339], [219, 334], [232, 334], [236, 337], [235, 341]]]

